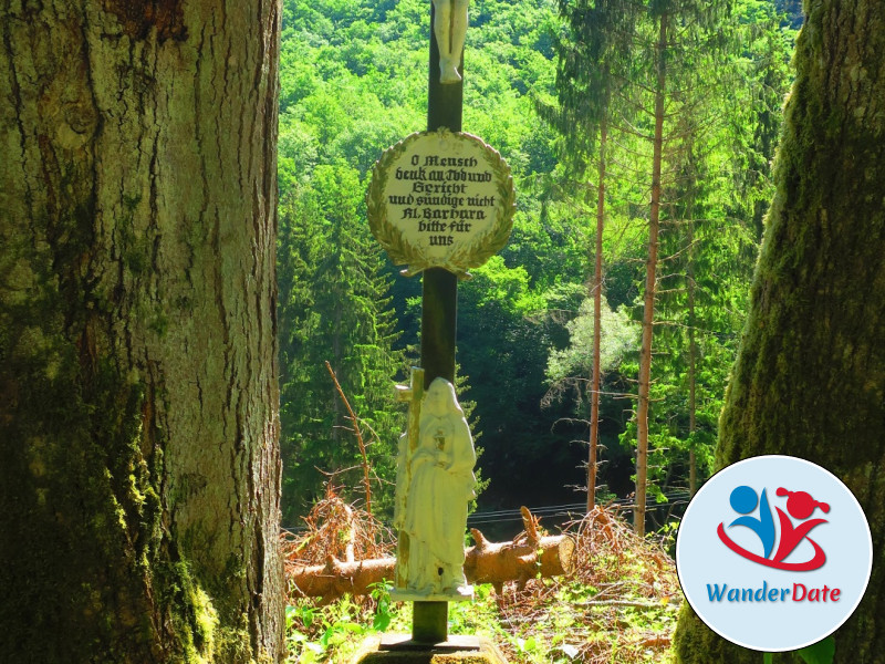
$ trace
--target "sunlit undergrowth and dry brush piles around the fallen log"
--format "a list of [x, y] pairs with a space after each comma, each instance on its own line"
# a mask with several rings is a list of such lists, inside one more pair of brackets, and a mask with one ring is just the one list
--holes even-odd
[[[527, 525], [548, 535], [535, 519]], [[449, 603], [449, 634], [491, 640], [510, 664], [671, 664], [670, 640], [683, 602], [673, 550], [674, 529], [638, 537], [621, 516], [596, 507], [565, 535], [574, 542], [569, 575], [529, 579], [500, 590], [476, 585], [472, 602]], [[514, 541], [524, 541], [523, 532]], [[289, 570], [287, 664], [344, 663], [383, 633], [409, 634], [412, 603], [392, 602], [389, 588], [332, 602], [301, 598], [294, 573], [329, 557], [393, 556], [392, 532], [334, 495], [284, 538]]]

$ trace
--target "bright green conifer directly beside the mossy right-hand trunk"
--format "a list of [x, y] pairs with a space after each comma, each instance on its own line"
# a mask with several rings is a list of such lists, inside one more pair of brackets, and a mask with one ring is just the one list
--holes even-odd
[[684, 477], [687, 456], [691, 492], [698, 470], [701, 478], [709, 470], [725, 367], [747, 311], [779, 126], [771, 104], [785, 92], [790, 39], [773, 7], [749, 2], [737, 4], [723, 34], [721, 54], [684, 48], [676, 55], [670, 100], [678, 112], [665, 151], [662, 324], [649, 435], [659, 475]]

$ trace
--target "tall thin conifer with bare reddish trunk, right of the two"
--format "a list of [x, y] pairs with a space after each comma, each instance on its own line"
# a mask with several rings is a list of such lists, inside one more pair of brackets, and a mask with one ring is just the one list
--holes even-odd
[[686, 73], [698, 66], [688, 54], [699, 49], [711, 54], [721, 51], [717, 34], [726, 19], [727, 3], [666, 0], [649, 2], [644, 9], [637, 14], [633, 32], [625, 35], [631, 56], [621, 85], [615, 89], [621, 104], [629, 110], [629, 115], [621, 113], [618, 120], [621, 132], [627, 137], [624, 143], [631, 146], [625, 156], [635, 163], [623, 170], [626, 178], [633, 180], [634, 200], [637, 194], [648, 196], [645, 210], [634, 203], [633, 209], [627, 211], [628, 217], [644, 219], [647, 228], [641, 289], [637, 406], [634, 425], [625, 434], [635, 435], [636, 440], [634, 527], [639, 533], [645, 531], [648, 490], [650, 406], [655, 384], [652, 361], [655, 333], [659, 328], [655, 308], [660, 288], [660, 232], [662, 222], [666, 224], [670, 214], [667, 187], [675, 170], [668, 153], [678, 137], [678, 118], [695, 111], [680, 86], [689, 79]]

